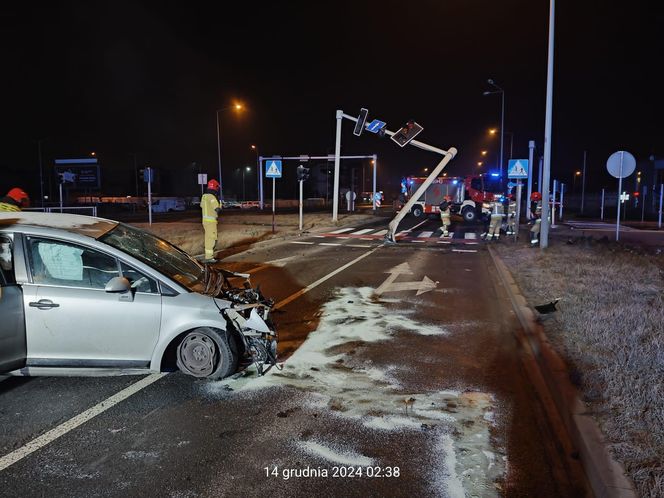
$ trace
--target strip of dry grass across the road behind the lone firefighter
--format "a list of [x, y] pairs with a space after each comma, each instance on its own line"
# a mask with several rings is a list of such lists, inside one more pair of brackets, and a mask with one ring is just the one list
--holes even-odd
[[[375, 220], [371, 214], [340, 214], [337, 223], [332, 222], [330, 213], [305, 213], [302, 228], [306, 231], [320, 230], [324, 227], [353, 226]], [[386, 222], [387, 223], [387, 222]], [[186, 222], [162, 222], [134, 223], [135, 226], [148, 230], [159, 237], [175, 244], [183, 251], [192, 255], [203, 253], [203, 227], [200, 221]], [[229, 247], [251, 244], [260, 240], [266, 240], [284, 236], [294, 236], [299, 233], [299, 214], [278, 214], [275, 216], [275, 232], [272, 233], [272, 214], [226, 214], [222, 213], [217, 228], [218, 240], [217, 250]]]

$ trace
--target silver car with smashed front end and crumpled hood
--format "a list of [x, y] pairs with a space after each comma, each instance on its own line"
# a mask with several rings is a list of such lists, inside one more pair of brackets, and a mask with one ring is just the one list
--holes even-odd
[[[243, 285], [237, 287], [236, 282]], [[0, 372], [223, 378], [276, 364], [272, 301], [102, 218], [0, 213]]]

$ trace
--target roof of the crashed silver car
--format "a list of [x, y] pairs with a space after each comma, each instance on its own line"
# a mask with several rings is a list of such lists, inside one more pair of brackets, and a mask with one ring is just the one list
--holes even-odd
[[118, 224], [117, 221], [81, 214], [42, 213], [37, 211], [0, 212], [0, 230], [14, 225], [55, 228], [97, 239], [118, 226]]

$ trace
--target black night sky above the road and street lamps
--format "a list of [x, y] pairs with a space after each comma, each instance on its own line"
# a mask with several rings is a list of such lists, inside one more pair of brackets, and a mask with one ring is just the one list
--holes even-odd
[[[55, 158], [94, 151], [103, 193], [134, 193], [135, 157], [161, 172], [160, 193], [194, 195], [199, 168], [217, 176], [215, 110], [235, 100], [246, 111], [220, 114], [225, 193], [241, 189], [238, 168], [255, 166], [250, 144], [264, 156], [332, 153], [336, 109], [366, 107], [391, 130], [414, 119], [418, 139], [459, 149], [450, 174], [487, 171], [480, 150], [495, 166], [499, 141], [487, 130], [500, 125], [500, 96], [482, 95], [487, 78], [505, 91], [514, 157], [527, 157], [530, 139], [542, 153], [548, 1], [234, 4], [3, 6], [0, 190], [20, 185], [38, 198], [41, 140], [47, 185]], [[552, 178], [571, 183], [584, 150], [588, 189], [613, 187], [605, 165], [616, 150], [650, 170], [651, 155], [664, 157], [655, 5], [557, 2]], [[506, 135], [506, 159], [509, 147]], [[349, 121], [342, 153], [378, 154], [388, 192], [438, 161], [355, 137]], [[296, 166], [285, 164], [289, 175]], [[255, 172], [246, 180], [255, 192]]]

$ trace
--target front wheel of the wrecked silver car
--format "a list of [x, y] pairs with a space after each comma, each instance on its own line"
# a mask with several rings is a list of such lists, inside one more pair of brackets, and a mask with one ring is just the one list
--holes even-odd
[[223, 379], [235, 371], [237, 357], [231, 351], [225, 332], [200, 327], [189, 332], [177, 349], [180, 371], [194, 377]]

